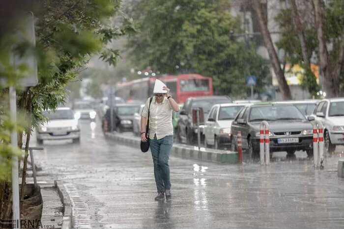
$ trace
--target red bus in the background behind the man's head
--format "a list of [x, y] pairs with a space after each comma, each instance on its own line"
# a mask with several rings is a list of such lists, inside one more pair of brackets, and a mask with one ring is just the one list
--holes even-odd
[[[145, 98], [153, 95], [155, 79], [154, 77], [146, 77], [130, 82], [117, 83], [115, 95], [126, 101], [144, 101]], [[182, 74], [162, 76], [159, 79], [171, 89], [172, 97], [178, 103], [184, 103], [189, 97], [213, 95], [211, 77], [204, 77], [199, 74]]]

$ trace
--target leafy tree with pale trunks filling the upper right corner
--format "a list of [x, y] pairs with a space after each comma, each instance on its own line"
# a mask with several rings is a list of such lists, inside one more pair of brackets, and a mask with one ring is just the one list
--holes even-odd
[[282, 38], [277, 46], [286, 51], [288, 61], [304, 67], [306, 74], [303, 85], [314, 95], [319, 88], [309, 63], [311, 64], [312, 55], [317, 56], [317, 60], [312, 58], [312, 63], [320, 66], [320, 75], [323, 77], [319, 79], [319, 83], [322, 90], [327, 93], [327, 97], [338, 97], [341, 94], [344, 76], [344, 2], [287, 2], [290, 3], [290, 8], [283, 9], [276, 18], [282, 31]]

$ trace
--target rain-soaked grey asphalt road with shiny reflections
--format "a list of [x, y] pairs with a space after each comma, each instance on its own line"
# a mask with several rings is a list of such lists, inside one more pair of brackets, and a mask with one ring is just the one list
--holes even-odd
[[[156, 202], [150, 153], [106, 139], [81, 121], [81, 143], [46, 141], [40, 179], [63, 181], [79, 228], [343, 228], [344, 148], [313, 168], [306, 153], [274, 153], [270, 166], [171, 158], [172, 201]], [[35, 145], [34, 136], [31, 146]]]

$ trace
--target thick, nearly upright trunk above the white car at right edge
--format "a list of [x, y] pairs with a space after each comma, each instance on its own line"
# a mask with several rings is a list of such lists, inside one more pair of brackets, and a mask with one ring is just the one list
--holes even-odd
[[[314, 10], [315, 10], [315, 24], [316, 24], [316, 33], [318, 39], [319, 47], [319, 60], [320, 60], [320, 69], [323, 74], [323, 91], [326, 92], [328, 98], [338, 97], [339, 93], [339, 83], [336, 80], [336, 76], [331, 72], [331, 67], [329, 64], [329, 54], [326, 47], [326, 38], [324, 35], [324, 26], [323, 26], [323, 16], [320, 7], [320, 0], [313, 0]], [[342, 42], [343, 43], [343, 42]], [[341, 55], [341, 54], [340, 54]], [[342, 59], [343, 62], [343, 59]], [[336, 64], [338, 66], [338, 63]], [[341, 64], [340, 64], [341, 66]], [[332, 71], [335, 71], [335, 66], [333, 66]], [[339, 71], [340, 72], [340, 71]], [[339, 74], [338, 74], [339, 78]], [[337, 83], [336, 83], [337, 82]]]

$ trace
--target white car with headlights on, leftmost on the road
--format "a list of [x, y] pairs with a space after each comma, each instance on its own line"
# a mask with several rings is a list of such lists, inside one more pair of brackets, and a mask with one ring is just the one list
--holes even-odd
[[76, 113], [69, 107], [57, 108], [55, 112], [48, 110], [44, 112], [49, 121], [36, 129], [37, 143], [43, 140], [73, 139], [80, 142], [80, 127]]

